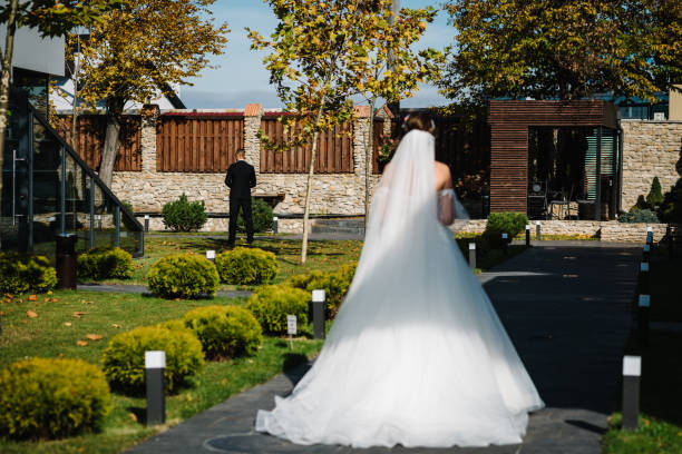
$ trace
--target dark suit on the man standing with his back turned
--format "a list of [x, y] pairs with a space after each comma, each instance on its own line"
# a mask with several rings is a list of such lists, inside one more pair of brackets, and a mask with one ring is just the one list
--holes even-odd
[[227, 169], [225, 185], [230, 188], [230, 237], [228, 243], [234, 243], [236, 237], [236, 219], [240, 208], [243, 210], [244, 224], [246, 224], [246, 240], [253, 241], [253, 219], [251, 217], [251, 188], [255, 186], [255, 170], [245, 160], [234, 162]]

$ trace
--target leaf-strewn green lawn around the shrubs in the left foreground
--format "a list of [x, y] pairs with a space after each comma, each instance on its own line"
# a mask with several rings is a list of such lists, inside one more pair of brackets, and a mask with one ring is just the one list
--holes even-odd
[[[37, 302], [27, 297], [3, 298], [3, 333], [0, 336], [0, 367], [25, 357], [74, 357], [99, 365], [103, 349], [117, 333], [136, 326], [153, 325], [181, 317], [193, 307], [212, 304], [243, 304], [243, 299], [216, 297], [199, 300], [162, 300], [142, 295], [104, 294], [91, 292], [55, 292], [39, 295]], [[31, 318], [27, 312], [38, 314]], [[75, 317], [74, 313], [84, 313]], [[67, 326], [65, 324], [70, 324]], [[98, 334], [101, 340], [88, 342], [87, 334]], [[305, 333], [304, 333], [305, 334]], [[148, 436], [247, 389], [300, 364], [321, 347], [320, 340], [303, 335], [294, 339], [294, 349], [283, 338], [266, 337], [259, 354], [223, 363], [210, 362], [202, 372], [198, 385], [168, 396], [167, 424], [147, 428], [142, 422], [144, 398], [114, 394], [114, 409], [99, 434], [88, 434], [53, 442], [0, 441], [2, 453], [118, 453]], [[255, 411], [255, 409], [254, 409]]]

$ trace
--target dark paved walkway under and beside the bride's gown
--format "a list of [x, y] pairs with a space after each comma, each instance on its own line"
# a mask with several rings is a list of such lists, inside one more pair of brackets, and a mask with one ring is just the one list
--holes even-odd
[[639, 245], [543, 243], [494, 273], [481, 275], [547, 404], [532, 415], [522, 445], [351, 450], [296, 446], [254, 433], [256, 409], [272, 408], [274, 395], [289, 393], [305, 372], [305, 367], [299, 367], [154, 436], [129, 453], [598, 454], [606, 417], [618, 393], [616, 381], [631, 326], [630, 303], [639, 258]]

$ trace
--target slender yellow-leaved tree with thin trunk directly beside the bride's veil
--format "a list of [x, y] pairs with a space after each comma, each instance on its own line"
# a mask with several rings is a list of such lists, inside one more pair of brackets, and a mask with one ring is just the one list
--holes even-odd
[[427, 24], [433, 21], [432, 7], [400, 10], [394, 17], [392, 0], [376, 0], [372, 8], [360, 9], [361, 14], [351, 27], [358, 28], [357, 46], [363, 49], [363, 58], [351, 67], [353, 83], [370, 105], [364, 162], [364, 225], [369, 219], [369, 188], [372, 175], [372, 138], [374, 109], [379, 98], [396, 102], [411, 97], [418, 83], [436, 80], [444, 55], [435, 49], [415, 52], [410, 46], [419, 41]]

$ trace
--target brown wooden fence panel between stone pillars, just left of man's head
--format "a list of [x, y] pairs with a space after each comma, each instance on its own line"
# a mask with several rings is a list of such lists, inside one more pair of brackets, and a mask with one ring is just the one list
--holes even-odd
[[242, 114], [166, 114], [156, 135], [157, 171], [227, 171], [244, 148]]

